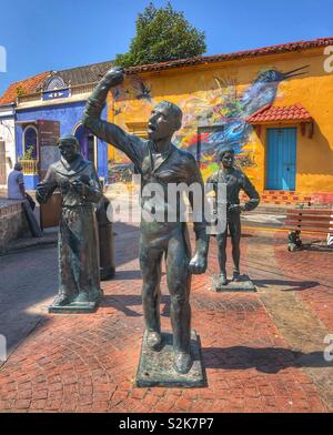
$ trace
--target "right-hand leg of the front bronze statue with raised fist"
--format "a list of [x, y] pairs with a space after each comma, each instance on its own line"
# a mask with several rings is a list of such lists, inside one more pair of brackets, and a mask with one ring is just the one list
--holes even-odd
[[189, 262], [189, 247], [182, 229], [180, 229], [170, 237], [167, 251], [167, 282], [171, 296], [170, 316], [173, 331], [174, 365], [180, 373], [188, 373], [192, 365]]

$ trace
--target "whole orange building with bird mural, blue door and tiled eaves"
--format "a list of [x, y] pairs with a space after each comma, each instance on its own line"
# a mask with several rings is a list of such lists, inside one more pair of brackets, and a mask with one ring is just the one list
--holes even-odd
[[[232, 148], [264, 201], [333, 203], [332, 47], [327, 38], [131, 68], [108, 119], [144, 136], [152, 107], [172, 101], [183, 111], [174, 143], [204, 178]], [[115, 150], [109, 159], [128, 161]]]

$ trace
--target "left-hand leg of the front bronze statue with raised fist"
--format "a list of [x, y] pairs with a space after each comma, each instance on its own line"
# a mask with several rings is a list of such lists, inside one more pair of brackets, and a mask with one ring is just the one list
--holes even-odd
[[157, 348], [161, 342], [160, 281], [163, 247], [152, 247], [140, 241], [140, 269], [142, 273], [142, 306], [148, 333], [148, 345]]

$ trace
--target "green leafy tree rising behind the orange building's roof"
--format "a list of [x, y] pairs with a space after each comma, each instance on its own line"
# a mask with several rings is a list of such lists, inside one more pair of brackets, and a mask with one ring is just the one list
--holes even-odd
[[117, 54], [114, 63], [128, 68], [175, 59], [193, 58], [204, 53], [205, 36], [173, 10], [170, 2], [157, 9], [150, 3], [137, 19], [137, 34], [130, 50]]

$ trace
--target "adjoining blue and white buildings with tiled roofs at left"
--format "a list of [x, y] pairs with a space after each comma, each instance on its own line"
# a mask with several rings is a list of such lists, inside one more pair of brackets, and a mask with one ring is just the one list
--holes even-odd
[[0, 99], [0, 182], [6, 184], [10, 162], [20, 160], [26, 188], [34, 190], [59, 159], [57, 141], [62, 134], [77, 136], [81, 153], [107, 182], [108, 144], [84, 129], [81, 120], [87, 98], [111, 65], [101, 62], [50, 71], [10, 85]]

